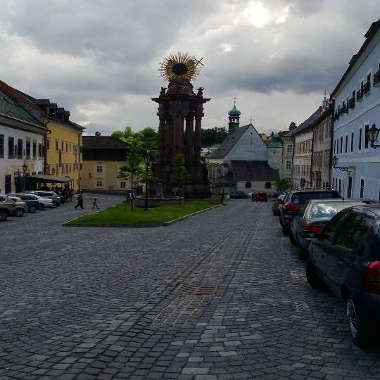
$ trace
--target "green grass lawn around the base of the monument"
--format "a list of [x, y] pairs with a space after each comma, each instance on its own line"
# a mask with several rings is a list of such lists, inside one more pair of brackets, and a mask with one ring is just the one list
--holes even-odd
[[124, 211], [124, 205], [121, 204], [99, 211], [99, 213], [78, 217], [75, 220], [65, 223], [65, 225], [128, 226], [136, 224], [164, 224], [170, 220], [205, 210], [217, 204], [220, 203], [199, 199], [185, 201], [183, 205], [163, 205], [157, 208], [149, 208], [146, 211], [143, 208], [135, 208], [134, 211], [131, 211], [129, 204]]

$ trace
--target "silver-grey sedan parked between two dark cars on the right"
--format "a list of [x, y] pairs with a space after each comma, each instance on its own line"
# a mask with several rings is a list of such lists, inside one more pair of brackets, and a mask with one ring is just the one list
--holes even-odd
[[291, 220], [291, 229], [289, 238], [294, 246], [298, 249], [298, 258], [305, 260], [308, 258], [308, 246], [310, 239], [300, 236], [302, 231], [312, 231], [319, 234], [323, 227], [339, 211], [354, 205], [363, 205], [362, 201], [353, 201], [352, 199], [311, 199], [307, 201], [298, 215], [294, 215]]

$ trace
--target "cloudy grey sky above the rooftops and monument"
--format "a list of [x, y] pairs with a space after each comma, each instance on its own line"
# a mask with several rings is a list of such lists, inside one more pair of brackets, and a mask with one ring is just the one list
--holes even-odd
[[0, 79], [87, 134], [156, 128], [159, 63], [188, 51], [213, 99], [203, 127], [227, 125], [236, 96], [268, 133], [308, 118], [379, 17], [379, 0], [0, 0]]

